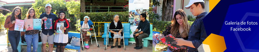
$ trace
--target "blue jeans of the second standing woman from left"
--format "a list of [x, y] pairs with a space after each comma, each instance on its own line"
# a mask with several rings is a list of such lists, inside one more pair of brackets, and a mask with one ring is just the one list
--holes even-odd
[[39, 35], [37, 34], [25, 34], [24, 38], [27, 43], [27, 52], [31, 52], [31, 44], [33, 44], [33, 52], [37, 52]]

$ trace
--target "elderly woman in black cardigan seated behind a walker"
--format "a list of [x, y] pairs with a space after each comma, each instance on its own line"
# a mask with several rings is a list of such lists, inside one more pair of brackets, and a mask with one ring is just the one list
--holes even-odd
[[119, 21], [119, 15], [113, 16], [113, 21], [110, 24], [110, 29], [121, 29], [121, 30], [110, 30], [111, 37], [113, 37], [113, 46], [111, 48], [115, 47], [115, 43], [118, 40], [118, 48], [121, 48], [121, 39], [122, 36], [122, 24], [121, 21]]

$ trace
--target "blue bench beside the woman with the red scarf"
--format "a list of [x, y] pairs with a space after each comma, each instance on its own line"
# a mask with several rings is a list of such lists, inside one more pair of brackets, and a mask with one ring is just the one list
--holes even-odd
[[[80, 38], [80, 33], [68, 32], [68, 37], [72, 37], [72, 36]], [[57, 46], [54, 45], [54, 47], [57, 47]], [[71, 46], [71, 45], [66, 45], [65, 48], [67, 48], [67, 49], [75, 49], [75, 50], [78, 50], [78, 52], [80, 52], [80, 49], [81, 49], [80, 46]]]

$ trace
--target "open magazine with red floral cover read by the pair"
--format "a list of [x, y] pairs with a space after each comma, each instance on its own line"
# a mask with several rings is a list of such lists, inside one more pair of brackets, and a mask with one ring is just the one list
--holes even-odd
[[161, 39], [156, 38], [157, 40], [159, 40], [160, 42], [164, 43], [165, 45], [169, 46], [169, 47], [173, 47], [175, 50], [177, 49], [186, 49], [185, 46], [179, 46], [176, 45], [177, 42], [175, 42], [174, 40], [174, 36], [172, 34], [169, 34]]

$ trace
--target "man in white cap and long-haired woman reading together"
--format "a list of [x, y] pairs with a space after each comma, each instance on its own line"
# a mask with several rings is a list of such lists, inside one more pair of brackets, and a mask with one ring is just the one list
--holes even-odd
[[193, 16], [197, 16], [192, 25], [189, 25], [185, 11], [176, 10], [174, 18], [162, 34], [154, 34], [153, 38], [163, 38], [172, 34], [177, 42], [176, 45], [185, 46], [186, 49], [173, 49], [168, 47], [167, 52], [198, 52], [198, 47], [207, 38], [203, 18], [207, 16], [205, 12], [205, 4], [203, 0], [190, 0], [185, 9], [190, 9]]

